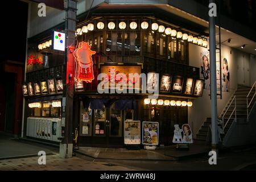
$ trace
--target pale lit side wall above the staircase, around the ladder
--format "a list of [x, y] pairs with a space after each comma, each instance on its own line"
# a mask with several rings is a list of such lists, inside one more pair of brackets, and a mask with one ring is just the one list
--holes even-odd
[[[207, 48], [199, 47], [194, 44], [189, 44], [189, 65], [193, 67], [201, 67], [202, 61], [201, 61], [201, 52], [208, 51]], [[254, 74], [250, 74], [250, 55], [238, 51], [237, 49], [233, 49], [228, 46], [221, 46], [221, 54], [222, 54], [222, 59], [224, 57], [228, 60], [228, 67], [229, 67], [229, 72], [230, 72], [230, 85], [229, 85], [229, 92], [222, 92], [222, 100], [220, 98], [217, 99], [217, 115], [221, 115], [222, 111], [224, 110], [226, 104], [232, 97], [233, 93], [236, 91], [237, 84], [243, 84], [250, 86], [250, 76], [255, 77], [255, 72]], [[219, 59], [219, 54], [216, 54], [216, 60]], [[255, 59], [255, 58], [254, 58]], [[251, 64], [255, 60], [251, 60]], [[241, 64], [243, 63], [243, 64]], [[243, 75], [245, 75], [245, 83], [239, 83], [238, 79], [240, 79], [242, 73], [240, 72], [240, 67], [243, 66], [245, 67], [245, 72]], [[248, 71], [248, 69], [249, 71]], [[250, 66], [252, 69], [252, 65]], [[254, 70], [255, 69], [255, 62], [254, 62]], [[243, 69], [242, 69], [243, 70]], [[200, 70], [201, 71], [201, 70]], [[201, 77], [201, 75], [200, 75]], [[252, 78], [251, 78], [252, 79]], [[254, 78], [255, 79], [255, 78]], [[243, 80], [243, 79], [242, 79]], [[189, 107], [188, 109], [188, 121], [189, 125], [192, 126], [193, 130], [193, 135], [195, 136], [197, 131], [200, 129], [201, 125], [203, 122], [206, 120], [206, 118], [211, 117], [211, 108], [210, 108], [210, 90], [209, 89], [204, 89], [203, 97], [199, 97], [196, 100], [193, 100], [193, 106]], [[217, 96], [220, 97], [220, 96]]]

